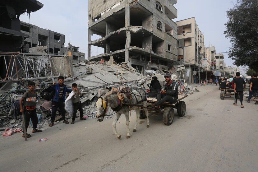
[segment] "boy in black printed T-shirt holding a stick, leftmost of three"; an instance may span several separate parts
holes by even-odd
[[[37,93],[34,91],[35,89],[35,83],[32,81],[28,82],[28,88],[29,91],[26,91],[20,100],[20,112],[24,112],[24,121],[25,121],[25,128],[26,131],[28,129],[30,119],[33,124],[32,132],[42,132],[41,130],[37,129],[38,125],[38,117],[36,113],[36,100],[37,100]],[[22,107],[22,101],[24,100],[24,106]],[[24,131],[22,134],[22,137],[24,137]],[[27,134],[27,138],[31,137],[30,134]]]

